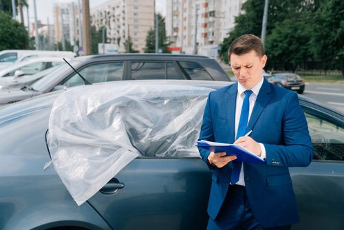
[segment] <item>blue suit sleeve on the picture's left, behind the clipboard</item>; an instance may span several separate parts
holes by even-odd
[[[208,99],[206,101],[206,107],[204,109],[202,127],[201,127],[201,132],[200,132],[200,140],[215,141],[214,132],[213,132],[213,119],[211,116],[211,93],[208,95]],[[202,148],[198,148],[198,151],[200,151],[200,155],[202,159],[204,160],[204,162],[206,163],[206,158],[208,158],[210,151],[206,149],[202,149]],[[208,165],[208,167],[211,170],[217,169],[216,167],[212,165]]]

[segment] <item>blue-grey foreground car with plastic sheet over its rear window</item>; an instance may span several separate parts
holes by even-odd
[[[230,84],[155,80],[101,85],[114,87],[116,92],[116,87],[142,83],[151,84],[155,89],[171,85],[171,94],[166,92],[166,97],[160,98],[162,101],[193,94],[191,90],[177,95],[173,87],[187,84],[195,90],[197,87],[216,90]],[[87,92],[94,86],[80,87]],[[149,157],[138,157],[87,202],[76,205],[54,167],[43,170],[43,165],[50,160],[47,147],[50,111],[63,92],[37,96],[0,109],[1,229],[206,229],[211,171],[199,156],[164,157],[157,151]],[[344,227],[344,114],[305,96],[300,95],[299,101],[308,121],[314,159],[308,167],[290,168],[301,216],[301,222],[292,229],[341,230]],[[137,116],[136,107],[132,113],[128,116]],[[169,124],[164,121],[166,117],[170,116],[160,116],[160,123]],[[135,124],[140,121],[131,121],[128,132],[135,132]]]

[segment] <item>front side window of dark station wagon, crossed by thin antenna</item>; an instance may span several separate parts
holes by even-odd
[[[90,83],[120,81],[122,80],[123,63],[117,62],[89,65],[83,68],[83,70],[80,71],[80,74]],[[63,85],[67,85],[68,87],[83,84],[83,79],[81,79],[78,74],[74,74],[74,76],[63,83]]]

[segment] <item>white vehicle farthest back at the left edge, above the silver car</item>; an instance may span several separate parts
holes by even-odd
[[[0,52],[0,70],[21,61],[28,61],[39,57],[61,57],[72,59],[76,55],[70,51],[47,51],[47,50],[2,50]]]

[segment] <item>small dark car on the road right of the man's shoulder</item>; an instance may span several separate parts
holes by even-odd
[[[288,90],[294,90],[298,94],[303,94],[305,91],[305,80],[301,79],[301,76],[298,74],[276,73],[268,77],[268,81]]]

